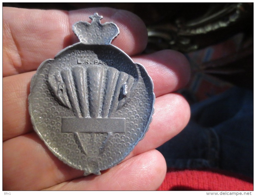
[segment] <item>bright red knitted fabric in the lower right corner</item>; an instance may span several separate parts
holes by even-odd
[[[225,174],[224,174],[225,173]],[[179,170],[167,172],[158,190],[251,191],[253,180],[226,172]]]

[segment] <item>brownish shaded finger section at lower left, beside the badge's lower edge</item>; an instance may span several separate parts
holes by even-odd
[[[3,143],[5,190],[39,190],[82,175],[55,157],[34,132]]]

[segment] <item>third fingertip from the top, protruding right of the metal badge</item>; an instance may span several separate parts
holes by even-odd
[[[126,159],[161,146],[188,124],[190,107],[181,95],[167,94],[158,97],[155,106],[149,131]]]

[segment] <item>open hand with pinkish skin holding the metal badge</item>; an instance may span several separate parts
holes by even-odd
[[[153,79],[155,112],[145,138],[117,166],[102,175],[83,176],[56,158],[33,131],[28,113],[31,77],[42,61],[77,42],[72,25],[98,12],[120,34],[113,45]],[[134,14],[110,8],[71,12],[3,8],[3,189],[5,190],[156,190],[166,173],[164,157],[154,150],[179,133],[190,117],[189,105],[171,93],[189,80],[189,64],[179,52],[138,55],[147,44],[146,27]]]

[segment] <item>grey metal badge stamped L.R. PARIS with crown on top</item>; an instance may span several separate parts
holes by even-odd
[[[44,61],[31,80],[29,112],[52,153],[84,175],[120,163],[152,120],[153,82],[145,68],[111,41],[114,23],[77,22],[80,42]]]

